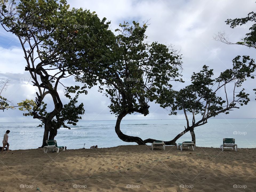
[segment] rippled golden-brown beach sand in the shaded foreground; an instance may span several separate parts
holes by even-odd
[[[128,145],[0,154],[0,191],[256,191],[256,150]]]

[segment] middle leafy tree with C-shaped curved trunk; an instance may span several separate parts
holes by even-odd
[[[170,46],[145,42],[146,23],[140,26],[133,21],[133,25],[124,22],[119,26],[121,30],[116,30],[119,34],[103,56],[107,65],[98,63],[95,75],[103,79],[99,91],[105,91],[104,94],[111,101],[110,111],[117,116],[115,132],[118,137],[125,142],[145,145],[141,138],[122,133],[122,118],[132,113],[146,116],[150,107],[148,102],[157,97],[156,93],[161,94],[171,88],[172,81],[180,81],[181,56]],[[77,59],[81,68],[84,58]]]

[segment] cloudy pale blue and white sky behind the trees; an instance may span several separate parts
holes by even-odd
[[[246,17],[255,11],[256,3],[253,1],[217,0],[217,1],[88,1],[68,0],[70,7],[89,9],[95,11],[99,18],[106,17],[111,21],[110,28],[115,30],[123,21],[148,21],[146,35],[148,41],[172,44],[174,49],[180,50],[183,60],[183,80],[185,83],[174,85],[176,89],[190,84],[193,72],[197,73],[203,65],[214,69],[214,74],[232,67],[232,59],[237,55],[250,55],[254,58],[255,49],[240,45],[226,45],[213,40],[214,34],[225,31],[231,42],[237,42],[249,31],[250,23],[231,29],[226,25],[228,18]],[[21,45],[15,35],[6,32],[0,27],[0,78],[10,79],[8,89],[2,96],[13,101],[14,104],[21,100],[34,99],[37,91],[33,87],[30,75],[25,72],[25,59]],[[73,85],[74,79],[65,79],[63,83]],[[249,105],[231,111],[228,115],[218,115],[216,118],[255,118],[255,82],[248,80],[244,83],[246,91],[250,94]],[[63,102],[63,88],[59,87]],[[49,99],[49,98],[46,98]],[[51,105],[50,99],[47,101]],[[98,92],[97,87],[89,90],[87,95],[81,95],[79,102],[83,102],[85,115],[82,120],[115,120],[115,115],[110,114],[107,107],[109,98]],[[124,119],[184,119],[183,113],[168,115],[169,110],[150,103],[149,115],[127,115]],[[191,118],[191,116],[189,116]],[[0,111],[0,122],[38,121],[32,117],[24,117],[18,109]]]

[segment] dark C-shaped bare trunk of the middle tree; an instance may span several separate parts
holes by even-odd
[[[117,122],[115,124],[115,132],[117,133],[117,136],[122,141],[125,141],[125,142],[136,142],[136,143],[138,143],[138,145],[146,145],[141,138],[125,135],[120,130],[120,123],[122,121],[122,118],[125,117],[125,115],[127,115],[127,114],[128,114],[127,112],[122,112],[117,117]]]

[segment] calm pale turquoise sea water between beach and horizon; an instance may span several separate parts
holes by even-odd
[[[7,129],[10,149],[34,149],[42,145],[43,128],[40,122],[0,123],[1,141]],[[124,134],[163,141],[172,140],[184,130],[186,120],[123,120],[121,131]],[[219,147],[223,138],[235,138],[238,148],[255,148],[256,119],[209,119],[208,123],[195,129],[197,146]],[[114,147],[118,145],[136,145],[120,140],[115,133],[115,121],[80,121],[71,130],[61,128],[55,137],[59,145],[67,149]],[[178,139],[177,143],[191,141],[190,133]],[[148,143],[149,145],[149,143]]]

